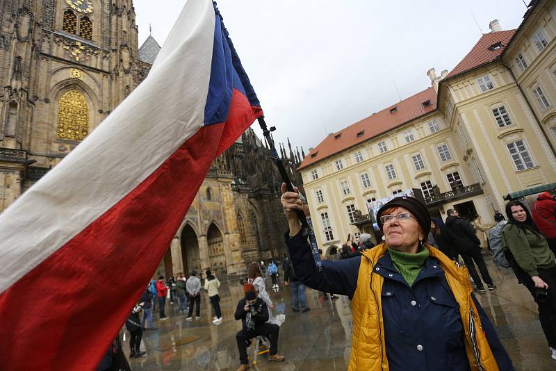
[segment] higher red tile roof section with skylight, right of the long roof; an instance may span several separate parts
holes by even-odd
[[[450,71],[448,76],[446,76],[446,79],[450,79],[450,77],[463,74],[470,69],[496,60],[496,58],[498,58],[502,51],[504,51],[507,47],[509,40],[512,39],[515,32],[516,30],[509,30],[491,32],[482,35],[482,38],[477,41],[475,47],[473,47],[465,58],[462,59],[461,62],[459,62],[457,66],[452,69],[452,71]],[[489,50],[489,47],[491,47],[491,45],[495,45],[497,42],[500,42],[500,48]]]

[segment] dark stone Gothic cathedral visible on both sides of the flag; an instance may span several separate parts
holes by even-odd
[[[149,36],[138,48],[135,20],[132,0],[0,1],[0,211],[145,79],[160,46]],[[291,145],[281,154],[301,185],[302,155]],[[279,184],[270,149],[249,129],[213,163],[157,274],[237,276],[279,256]]]

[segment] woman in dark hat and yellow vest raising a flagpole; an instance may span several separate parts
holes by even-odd
[[[281,203],[295,273],[315,290],[352,300],[349,370],[513,370],[493,325],[472,293],[464,267],[425,245],[430,215],[413,197],[377,213],[385,243],[343,261],[313,263],[296,211],[297,189]]]

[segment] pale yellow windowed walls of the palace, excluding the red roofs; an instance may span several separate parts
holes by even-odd
[[[433,199],[428,205],[433,215],[445,219],[449,208],[465,206],[470,215],[473,211],[489,224],[494,211],[504,213],[503,197],[510,192],[556,182],[555,3],[546,1],[533,8],[502,58],[453,77],[445,72],[436,77],[431,69],[429,76],[439,96],[438,108],[430,114],[302,167],[313,227],[323,251],[343,244],[350,233],[368,231],[369,225],[363,229],[352,224],[350,211],[366,215],[368,201],[391,197],[396,190],[422,189],[430,181],[445,194],[444,201]],[[531,36],[539,28],[547,42],[542,51]],[[524,72],[514,61],[519,52],[528,60]],[[492,86],[486,91],[480,86],[484,76]],[[532,91],[539,85],[548,107],[541,106]],[[432,120],[438,131],[434,125],[431,129]],[[406,140],[409,130],[414,138],[410,142]],[[381,151],[379,145],[387,150]],[[512,157],[511,149],[519,152],[518,158]],[[343,165],[340,170],[338,160]],[[389,176],[389,165],[395,177]],[[453,195],[456,172],[463,188]]]

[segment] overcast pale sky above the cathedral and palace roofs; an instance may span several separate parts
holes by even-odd
[[[492,19],[517,28],[526,10],[523,0],[217,2],[275,139],[305,154],[399,101],[394,81],[405,99],[431,85],[431,67],[455,67],[481,36],[471,13],[487,33]],[[184,1],[133,3],[139,44],[152,24],[162,45]]]

